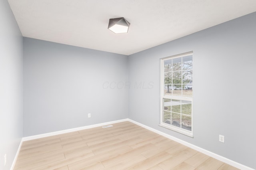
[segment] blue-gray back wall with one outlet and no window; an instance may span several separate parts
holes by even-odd
[[[127,118],[127,60],[24,38],[24,137]]]

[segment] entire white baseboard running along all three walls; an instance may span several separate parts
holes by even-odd
[[[56,132],[50,132],[50,133],[45,133],[45,134],[38,134],[38,135],[34,135],[34,136],[24,137],[24,138],[22,138],[22,141],[20,142],[20,146],[19,146],[19,148],[18,148],[18,151],[17,151],[17,154],[16,154],[16,156],[15,156],[15,159],[14,159],[14,161],[13,161],[13,163],[12,163],[12,168],[11,168],[11,170],[14,168],[14,165],[15,165],[15,162],[16,162],[16,159],[17,159],[17,157],[18,157],[18,153],[19,153],[19,151],[20,151],[20,147],[21,147],[23,141],[26,141],[26,140],[33,140],[33,139],[38,139],[38,138],[43,138],[43,137],[48,137],[48,136],[54,136],[54,135],[57,135],[57,134],[63,134],[63,133],[68,133],[68,132],[74,132],[74,131],[77,131],[77,130],[84,130],[84,129],[88,129],[88,128],[101,127],[101,126],[110,125],[110,124],[114,124],[114,123],[120,123],[120,122],[124,122],[124,121],[130,121],[130,122],[132,122],[132,123],[134,123],[134,124],[136,124],[136,125],[139,125],[139,126],[141,126],[141,127],[144,127],[144,128],[146,128],[146,129],[148,129],[148,130],[150,130],[150,131],[152,131],[152,132],[155,132],[155,133],[160,134],[160,135],[162,135],[162,136],[164,136],[164,137],[166,137],[166,138],[169,138],[169,139],[171,139],[171,140],[174,140],[174,141],[176,141],[176,142],[179,142],[180,144],[183,144],[183,145],[185,145],[185,146],[188,146],[188,147],[190,147],[190,148],[192,148],[192,149],[194,149],[194,150],[197,150],[198,152],[202,152],[202,153],[204,153],[204,154],[206,154],[206,155],[208,155],[208,156],[211,156],[212,158],[215,158],[215,159],[217,159],[217,160],[220,160],[220,161],[222,161],[222,162],[224,162],[224,163],[226,163],[226,164],[230,164],[231,166],[234,166],[234,167],[239,168],[239,169],[241,169],[241,170],[254,170],[254,169],[252,169],[252,168],[250,168],[250,167],[248,167],[248,166],[245,166],[245,165],[243,165],[243,164],[240,164],[240,163],[238,163],[238,162],[235,162],[235,161],[233,161],[233,160],[230,160],[230,159],[228,159],[228,158],[225,158],[225,157],[223,157],[223,156],[220,156],[220,155],[218,155],[218,154],[215,154],[215,153],[213,153],[213,152],[210,152],[210,151],[208,151],[208,150],[205,150],[205,149],[200,148],[200,147],[198,147],[198,146],[195,146],[195,145],[193,145],[193,144],[190,144],[190,143],[188,143],[188,142],[186,142],[186,141],[184,141],[184,140],[180,140],[180,139],[178,139],[178,138],[176,138],[176,137],[174,137],[174,136],[171,136],[171,135],[169,135],[169,134],[166,134],[166,133],[161,132],[161,131],[159,131],[159,130],[156,130],[156,129],[154,129],[154,128],[148,127],[148,126],[146,126],[146,125],[143,125],[143,124],[138,123],[138,122],[136,122],[136,121],[133,121],[133,120],[131,120],[131,119],[121,119],[121,120],[118,120],[118,121],[111,121],[111,122],[106,122],[106,123],[99,123],[99,124],[95,124],[95,125],[89,125],[89,126],[84,126],[84,127],[78,127],[78,128],[72,128],[72,129],[67,129],[67,130],[60,130],[60,131],[56,131]]]

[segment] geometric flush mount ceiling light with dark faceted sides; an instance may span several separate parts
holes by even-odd
[[[116,34],[127,33],[129,26],[130,23],[124,17],[109,19],[108,23],[108,29]]]

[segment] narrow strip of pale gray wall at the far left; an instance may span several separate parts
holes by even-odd
[[[0,169],[9,170],[22,138],[22,35],[0,1]],[[6,154],[6,166],[4,166]]]

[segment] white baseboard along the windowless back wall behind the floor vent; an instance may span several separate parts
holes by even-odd
[[[84,127],[60,130],[60,131],[56,131],[56,132],[38,134],[38,135],[34,135],[34,136],[23,137],[22,141],[44,138],[44,137],[48,137],[48,136],[54,136],[54,135],[57,135],[57,134],[74,132],[74,131],[84,130],[84,129],[88,129],[88,128],[101,127],[101,126],[110,125],[110,124],[114,124],[114,123],[120,123],[120,122],[124,122],[124,121],[129,121],[129,120],[128,119],[121,119],[121,120],[118,120],[118,121],[111,121],[111,122],[99,123],[99,124],[95,124],[95,125],[88,125],[88,126],[84,126]]]

